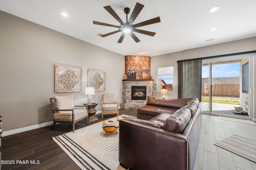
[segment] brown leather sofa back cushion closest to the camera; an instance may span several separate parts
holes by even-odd
[[[182,107],[164,122],[163,129],[182,134],[191,119],[190,109]]]

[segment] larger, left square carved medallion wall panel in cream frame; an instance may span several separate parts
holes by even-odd
[[[55,65],[55,93],[81,92],[82,68]]]

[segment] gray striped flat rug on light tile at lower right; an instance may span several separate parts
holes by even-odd
[[[215,145],[256,162],[256,141],[254,140],[234,134]]]

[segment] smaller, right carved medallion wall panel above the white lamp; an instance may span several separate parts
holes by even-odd
[[[105,91],[105,72],[88,70],[88,87],[95,91]]]

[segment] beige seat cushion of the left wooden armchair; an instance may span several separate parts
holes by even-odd
[[[85,117],[87,115],[87,111],[84,109],[74,109],[74,118],[75,121]],[[61,113],[55,113],[53,115],[54,120],[58,121],[72,121],[72,111],[63,111]]]

